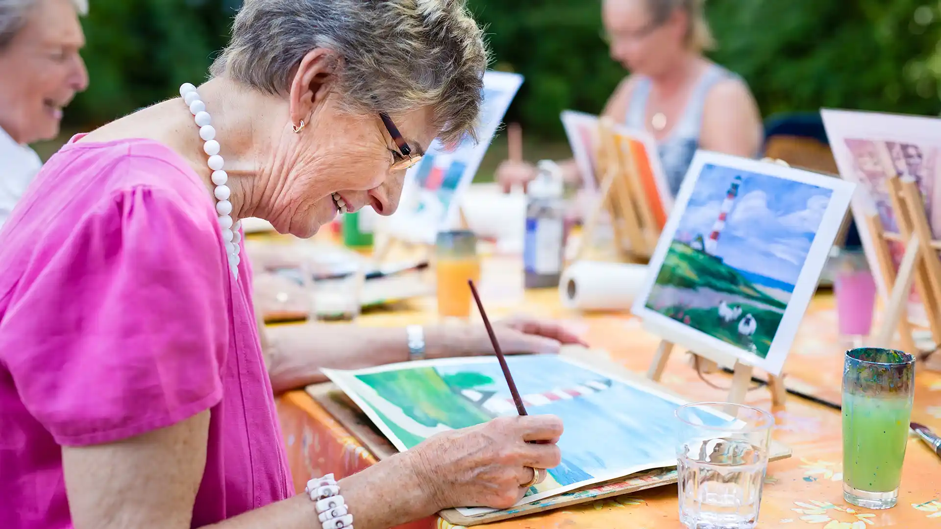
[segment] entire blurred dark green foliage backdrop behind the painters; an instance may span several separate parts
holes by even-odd
[[[562,136],[559,112],[598,112],[626,74],[599,38],[599,0],[469,0],[494,67],[526,82],[509,111]],[[238,0],[92,0],[91,87],[70,111],[88,127],[204,78]],[[748,81],[768,116],[821,106],[935,115],[941,10],[928,0],[708,0],[711,56]]]

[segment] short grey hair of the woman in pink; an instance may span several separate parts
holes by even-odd
[[[430,106],[441,140],[473,136],[488,56],[466,0],[246,0],[212,73],[283,95],[315,48],[336,52],[346,110]]]

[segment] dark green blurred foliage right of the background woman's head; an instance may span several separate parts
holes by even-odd
[[[712,56],[765,115],[843,107],[937,114],[937,4],[924,0],[710,0]]]

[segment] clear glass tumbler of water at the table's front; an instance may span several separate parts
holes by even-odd
[[[758,523],[774,417],[723,402],[677,409],[679,521],[690,529],[751,529]]]

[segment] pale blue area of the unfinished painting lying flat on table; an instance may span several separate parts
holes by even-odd
[[[514,356],[507,363],[519,393],[524,395],[606,378],[554,356]],[[441,375],[481,373],[496,382],[478,389],[496,391],[491,398],[510,398],[496,359],[490,363],[440,365],[437,369]],[[615,382],[600,393],[559,400],[527,411],[531,415],[550,413],[562,418],[565,433],[559,448],[563,467],[568,468],[555,469],[552,476],[566,485],[587,479],[584,473],[598,476],[649,463],[675,464],[679,423],[673,413],[677,408],[677,404],[659,396]]]

